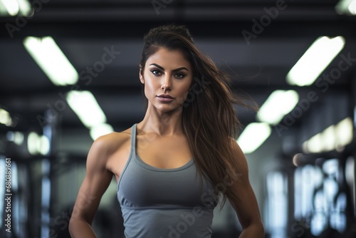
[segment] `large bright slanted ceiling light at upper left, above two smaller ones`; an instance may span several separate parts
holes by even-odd
[[[51,36],[37,38],[28,36],[23,45],[48,78],[56,86],[78,82],[78,73]]]

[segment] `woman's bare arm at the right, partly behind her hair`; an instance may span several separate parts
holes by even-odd
[[[235,167],[239,180],[231,185],[232,190],[238,197],[238,202],[231,202],[234,207],[242,227],[240,238],[262,238],[265,236],[261,214],[258,210],[256,196],[252,190],[248,179],[248,165],[244,152],[239,145],[233,142],[236,159],[239,160]]]

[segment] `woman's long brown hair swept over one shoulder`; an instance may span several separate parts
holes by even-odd
[[[238,202],[231,185],[224,186],[224,179],[229,176],[229,181],[239,180],[234,170],[239,166],[239,160],[234,157],[231,147],[231,141],[236,140],[241,126],[234,104],[248,104],[231,92],[229,75],[199,51],[185,26],[157,26],[145,35],[140,61],[142,75],[147,59],[159,48],[179,50],[192,64],[194,86],[183,103],[183,130],[200,175],[207,175],[218,189],[224,187],[221,206],[226,197],[231,202]]]

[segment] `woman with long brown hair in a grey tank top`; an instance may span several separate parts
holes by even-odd
[[[95,237],[90,224],[115,175],[127,238],[211,237],[219,198],[236,209],[241,237],[264,237],[246,158],[235,140],[233,103],[240,102],[229,77],[194,46],[184,26],[156,27],[144,41],[145,118],[93,143],[70,234]]]

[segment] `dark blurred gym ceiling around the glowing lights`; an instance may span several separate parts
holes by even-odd
[[[54,86],[48,80],[23,47],[26,36],[55,39],[78,73],[87,76],[76,87],[93,92],[108,123],[117,131],[141,120],[145,113],[137,64],[142,36],[152,26],[187,25],[201,51],[231,73],[236,93],[248,93],[259,105],[276,89],[306,92],[305,88],[289,86],[286,74],[319,36],[344,36],[342,53],[356,56],[356,17],[336,14],[336,0],[34,2],[36,11],[31,19],[0,18],[0,106],[19,118],[17,130],[41,131],[38,115],[55,108],[63,135],[75,132],[80,134],[78,140],[90,138],[63,100],[71,88]],[[152,4],[157,2],[162,4],[159,10]],[[252,32],[253,19],[260,21],[266,9],[283,2],[285,9],[247,42],[242,32]],[[9,31],[10,26],[16,28]],[[101,60],[105,48],[120,54],[103,71],[90,76],[86,69]],[[335,59],[329,68],[338,61]],[[349,88],[352,77],[355,66],[342,73],[328,94]],[[255,120],[251,112],[238,113],[244,125]]]

